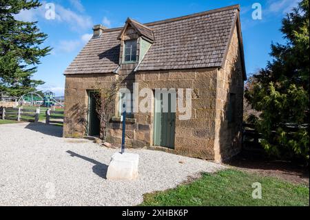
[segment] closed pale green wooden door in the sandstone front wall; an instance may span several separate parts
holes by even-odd
[[[163,111],[163,94],[161,94],[160,99],[155,99],[154,145],[174,149],[176,112],[172,112],[171,107],[176,106],[176,99],[172,94],[167,95],[168,112]]]

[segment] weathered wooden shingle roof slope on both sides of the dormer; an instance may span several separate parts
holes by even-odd
[[[239,6],[229,6],[144,25],[131,19],[143,35],[154,37],[136,70],[222,67],[239,10]],[[100,38],[91,39],[65,74],[114,72],[119,65],[122,30],[107,29]]]

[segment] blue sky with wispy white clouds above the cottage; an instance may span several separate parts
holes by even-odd
[[[92,36],[94,24],[101,23],[108,28],[116,28],[123,26],[127,17],[147,23],[240,4],[245,64],[247,74],[250,75],[265,67],[270,60],[271,42],[284,42],[280,32],[281,20],[297,5],[298,0],[55,0],[41,3],[41,8],[23,11],[18,14],[17,19],[38,21],[41,31],[48,34],[44,46],[54,49],[50,55],[41,59],[34,79],[45,81],[45,85],[39,89],[52,90],[56,95],[63,95],[63,72]],[[55,19],[46,19],[46,3],[54,3]],[[261,20],[252,19],[254,3],[260,3],[262,6]]]

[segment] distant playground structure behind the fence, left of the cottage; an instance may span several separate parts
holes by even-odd
[[[63,107],[63,103],[55,99],[55,94],[53,92],[46,91],[43,94],[44,97],[41,97],[41,95],[36,92],[29,92],[21,96],[18,103],[20,106],[42,106],[45,108],[50,108],[52,106]]]

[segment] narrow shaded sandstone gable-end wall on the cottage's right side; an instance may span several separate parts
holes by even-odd
[[[229,159],[242,146],[243,72],[237,29],[231,39],[225,68],[218,70],[216,88],[216,161]],[[233,122],[227,120],[229,93],[236,94],[236,109]]]

